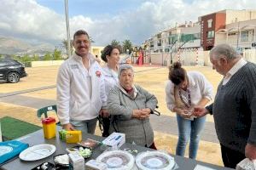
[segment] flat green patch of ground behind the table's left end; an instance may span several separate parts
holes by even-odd
[[[3,141],[20,138],[21,136],[33,133],[42,128],[10,116],[4,116],[0,119],[0,122]]]

